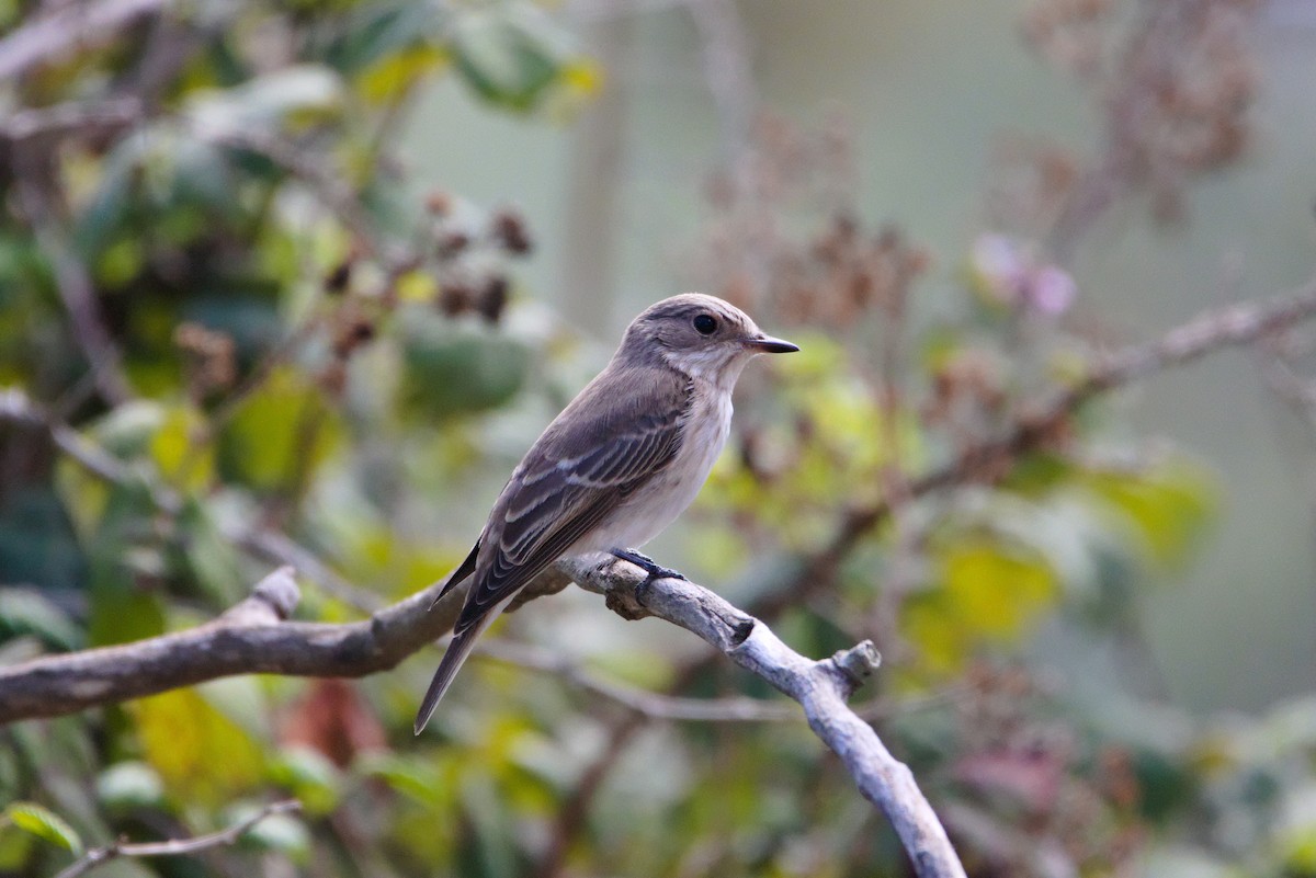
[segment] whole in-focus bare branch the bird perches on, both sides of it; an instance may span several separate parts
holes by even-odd
[[[605,594],[608,606],[625,618],[657,615],[679,624],[799,701],[809,727],[842,758],[861,793],[891,819],[917,874],[963,875],[913,775],[845,703],[876,668],[871,643],[812,661],[767,626],[692,582],[659,580],[637,594],[644,572],[611,556],[601,566],[566,559],[558,569]],[[465,588],[428,611],[437,588],[365,622],[287,622],[299,593],[292,569],[280,568],[257,585],[251,598],[190,631],[0,669],[0,723],[68,714],[240,673],[359,677],[383,670],[451,627]]]

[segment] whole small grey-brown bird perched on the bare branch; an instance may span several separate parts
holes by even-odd
[[[416,714],[417,735],[475,639],[559,557],[611,552],[650,580],[680,576],[628,547],[647,543],[695,499],[726,443],[732,388],[750,358],[797,350],[700,293],[663,300],[630,323],[608,367],[513,471],[475,548],[434,599],[474,577]]]

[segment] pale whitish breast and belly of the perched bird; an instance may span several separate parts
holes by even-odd
[[[732,425],[728,393],[701,394],[708,402],[691,411],[672,461],[612,511],[569,553],[640,547],[661,534],[694,502],[726,444]],[[588,544],[586,544],[588,543]]]

